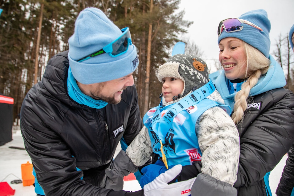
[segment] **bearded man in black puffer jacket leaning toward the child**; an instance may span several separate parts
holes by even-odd
[[[128,28],[118,29],[99,9],[81,11],[69,51],[49,60],[21,107],[37,194],[144,195],[111,187],[105,174],[119,141],[130,144],[142,128],[132,76],[137,66]]]

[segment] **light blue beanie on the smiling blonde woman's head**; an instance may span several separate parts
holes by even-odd
[[[235,37],[245,41],[251,46],[258,49],[263,55],[269,58],[270,54],[270,21],[268,14],[263,9],[252,10],[242,14],[239,19],[247,20],[259,26],[263,31],[256,29],[248,24],[241,24],[243,29],[241,31],[227,33],[223,31],[218,37],[218,44],[220,40],[226,37]],[[228,28],[228,27],[227,27]]]

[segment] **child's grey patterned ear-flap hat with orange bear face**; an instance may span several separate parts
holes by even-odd
[[[194,87],[200,88],[209,81],[206,62],[190,54],[176,54],[158,68],[158,80],[165,77],[180,78],[184,82],[181,96],[188,94]]]

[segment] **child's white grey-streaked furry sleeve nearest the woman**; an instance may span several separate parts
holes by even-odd
[[[212,107],[198,118],[196,130],[202,152],[201,172],[233,186],[240,156],[240,139],[233,120],[220,107]]]

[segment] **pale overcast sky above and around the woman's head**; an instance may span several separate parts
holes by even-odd
[[[278,36],[286,36],[294,24],[294,0],[181,0],[179,9],[185,10],[185,20],[194,21],[186,36],[204,52],[202,58],[207,63],[208,59],[218,59],[217,28],[223,19],[238,18],[250,10],[266,10],[271,22],[270,54]]]

